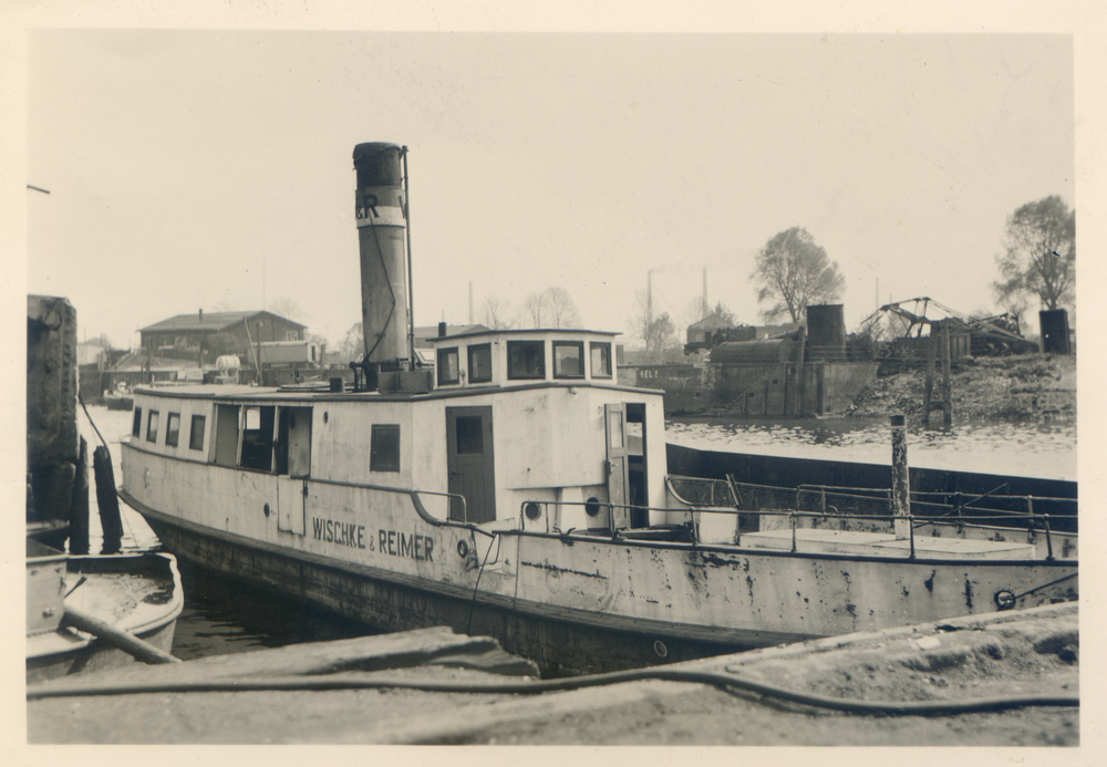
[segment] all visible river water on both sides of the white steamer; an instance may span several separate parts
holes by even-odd
[[[131,413],[89,408],[108,443],[116,484],[123,480],[120,443],[130,438]],[[81,434],[90,454],[99,439],[89,419],[79,413]],[[884,419],[807,419],[787,423],[728,418],[687,418],[665,424],[670,442],[689,447],[831,460],[887,464],[891,436]],[[946,432],[912,429],[909,456],[913,465],[1055,479],[1076,479],[1076,426],[995,424]],[[91,473],[91,467],[90,467]],[[102,546],[95,488],[90,490],[90,550]],[[145,520],[126,505],[123,515],[124,551],[161,546]],[[311,604],[258,589],[249,583],[178,562],[185,589],[185,609],[177,620],[174,654],[182,660],[246,652],[298,642],[345,639],[372,631]]]

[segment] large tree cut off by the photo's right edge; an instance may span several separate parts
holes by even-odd
[[[1075,300],[1076,211],[1054,195],[1027,203],[1007,217],[1004,252],[995,257],[996,301],[1012,314],[1037,297],[1046,309]]]

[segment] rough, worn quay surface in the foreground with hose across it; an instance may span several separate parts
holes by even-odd
[[[520,694],[536,683],[532,664],[489,639],[425,629],[56,680],[28,690],[28,742],[1079,745],[1075,603],[658,668],[673,678]],[[836,711],[682,674],[890,707]],[[404,686],[418,684],[437,690]],[[1026,695],[1047,702],[1003,703]],[[896,709],[982,698],[990,704],[972,713]]]

